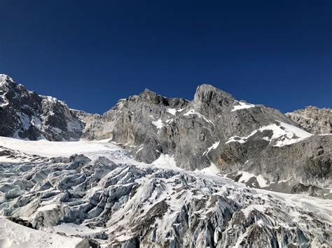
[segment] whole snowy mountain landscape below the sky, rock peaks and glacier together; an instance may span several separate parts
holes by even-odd
[[[97,115],[0,75],[0,247],[332,247],[332,136],[288,116],[212,85]]]

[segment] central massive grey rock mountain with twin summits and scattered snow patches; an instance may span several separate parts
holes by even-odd
[[[168,154],[188,170],[216,166],[269,182],[331,186],[332,136],[314,136],[279,110],[237,101],[212,85],[200,85],[193,101],[148,89],[121,99],[90,117],[83,137],[112,138],[147,163]]]

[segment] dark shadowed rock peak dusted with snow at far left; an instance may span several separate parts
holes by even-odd
[[[80,138],[82,129],[83,122],[64,102],[39,96],[0,75],[0,136],[59,141]]]

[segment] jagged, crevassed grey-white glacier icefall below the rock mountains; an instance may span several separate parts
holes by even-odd
[[[4,163],[0,171],[0,214],[52,233],[45,237],[103,247],[332,245],[331,200],[83,155]]]

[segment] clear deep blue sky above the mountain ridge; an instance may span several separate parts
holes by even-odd
[[[332,107],[332,1],[0,0],[0,73],[104,112],[209,83],[282,112]]]

